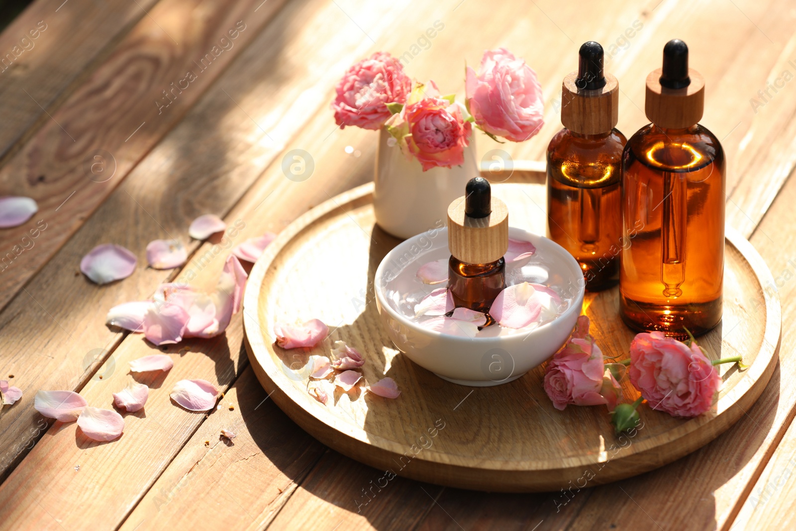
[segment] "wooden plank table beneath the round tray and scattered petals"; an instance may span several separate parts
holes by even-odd
[[[0,231],[0,377],[25,392],[0,418],[0,529],[793,528],[794,18],[786,0],[36,0],[0,34],[0,195],[33,197],[40,209]],[[33,48],[18,53],[34,29]],[[767,261],[782,299],[778,369],[747,416],[707,447],[579,490],[565,506],[561,493],[396,478],[357,511],[380,472],[323,447],[267,400],[242,349],[240,314],[218,338],[161,349],[176,361],[169,381],[147,382],[146,408],[125,416],[116,441],[94,443],[33,409],[38,389],[66,388],[111,407],[128,361],[156,349],[105,326],[107,310],[176,277],[212,286],[229,242],[193,242],[181,271],[139,267],[104,287],[78,271],[91,248],[121,244],[145,264],[150,240],[187,240],[202,213],[242,226],[236,243],[372,178],[375,133],[338,129],[329,109],[354,61],[388,50],[417,79],[462,93],[464,61],[505,46],[537,70],[547,123],[522,144],[481,137],[478,152],[540,160],[583,41],[606,47],[622,90],[618,127],[630,135],[646,123],[644,80],[672,37],[689,44],[707,84],[702,123],[727,152],[728,223]],[[189,70],[195,79],[174,89]],[[283,174],[294,149],[314,159],[305,182]],[[39,220],[45,230],[22,240]],[[222,408],[175,407],[168,393],[181,378],[216,383]],[[220,428],[236,431],[233,443]]]

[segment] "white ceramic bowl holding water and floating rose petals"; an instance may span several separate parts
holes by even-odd
[[[583,306],[584,282],[579,264],[563,247],[544,236],[520,228],[509,228],[509,236],[530,241],[537,248],[535,256],[544,256],[554,264],[554,267],[548,267],[550,278],[546,283],[568,290],[566,298],[571,301],[568,308],[551,322],[529,332],[492,337],[443,334],[413,322],[389,302],[388,291],[396,290],[389,288],[388,284],[396,279],[396,267],[416,271],[420,265],[439,258],[429,257],[435,250],[435,255],[439,255],[443,247],[447,251],[447,228],[435,229],[433,235],[423,232],[384,256],[374,282],[377,307],[384,326],[392,342],[409,359],[447,381],[487,386],[516,380],[564,345]],[[403,275],[402,278],[406,277]],[[507,283],[511,283],[508,273]],[[441,283],[431,288],[444,286]]]

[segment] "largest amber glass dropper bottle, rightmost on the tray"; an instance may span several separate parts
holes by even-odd
[[[697,123],[704,80],[689,49],[674,39],[663,68],[646,79],[652,123],[627,143],[623,158],[620,307],[636,330],[685,338],[721,320],[724,277],[724,150]]]

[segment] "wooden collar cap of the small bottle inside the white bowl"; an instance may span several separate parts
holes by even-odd
[[[469,217],[464,213],[465,197],[448,206],[448,248],[465,264],[490,264],[509,250],[509,209],[492,197],[492,213]]]

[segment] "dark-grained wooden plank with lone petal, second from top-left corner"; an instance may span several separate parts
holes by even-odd
[[[255,11],[260,3],[158,2],[0,168],[2,189],[39,205],[27,223],[0,232],[0,307],[179,122],[284,0]],[[46,229],[31,239],[37,223]]]

